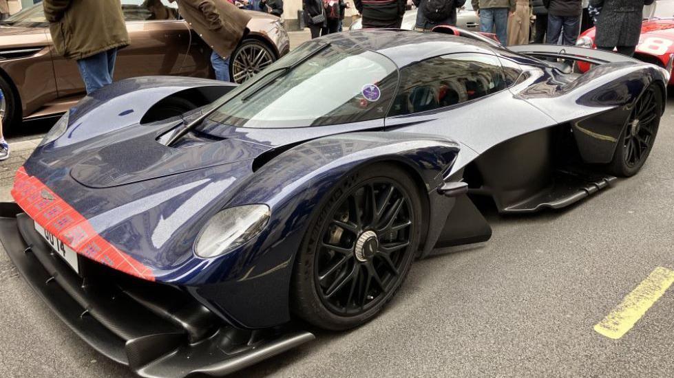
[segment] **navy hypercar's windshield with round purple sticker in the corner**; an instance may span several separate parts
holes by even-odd
[[[308,42],[257,74],[260,85],[236,91],[209,116],[232,126],[277,129],[324,126],[383,118],[398,85],[397,67],[363,49]],[[255,80],[255,79],[254,79]]]

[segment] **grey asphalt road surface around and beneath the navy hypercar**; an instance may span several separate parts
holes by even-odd
[[[620,339],[594,331],[654,269],[674,269],[672,146],[669,100],[636,177],[564,211],[489,214],[491,241],[415,263],[372,322],[317,332],[235,376],[672,377],[674,287]],[[131,376],[74,336],[0,251],[0,377]]]

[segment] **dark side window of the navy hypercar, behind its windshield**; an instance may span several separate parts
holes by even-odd
[[[389,115],[450,107],[501,91],[507,85],[496,56],[437,56],[400,70],[400,86]]]

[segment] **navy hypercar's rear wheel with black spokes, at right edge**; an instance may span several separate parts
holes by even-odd
[[[660,126],[662,89],[649,85],[635,102],[618,146],[615,148],[609,171],[622,177],[639,172],[648,159]]]

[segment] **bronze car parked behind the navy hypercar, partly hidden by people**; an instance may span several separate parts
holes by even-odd
[[[180,19],[176,3],[122,0],[131,45],[120,49],[115,80],[148,75],[214,78],[211,49]],[[233,52],[230,73],[243,82],[290,49],[280,19],[250,12],[251,32]],[[0,22],[0,113],[7,129],[21,119],[59,115],[84,96],[74,60],[56,53],[41,3]]]

